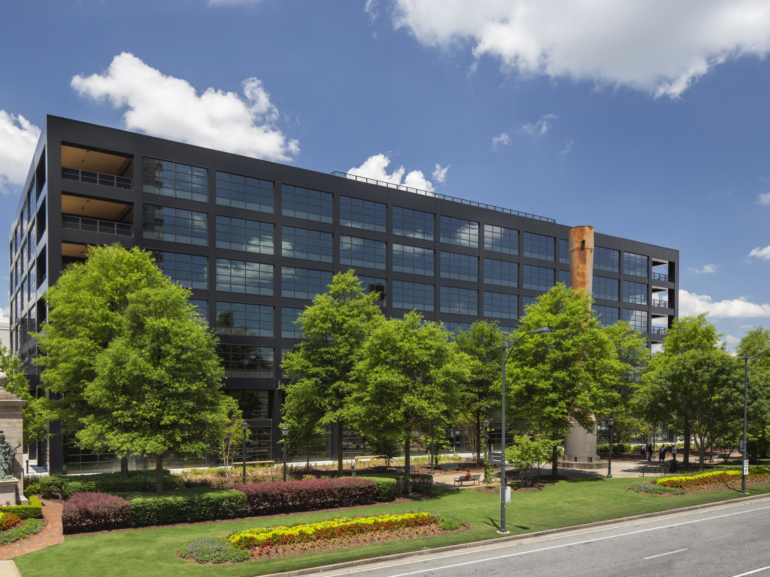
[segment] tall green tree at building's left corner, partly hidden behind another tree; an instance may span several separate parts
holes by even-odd
[[[129,295],[164,282],[149,252],[116,243],[89,247],[85,262],[68,265],[45,293],[48,319],[34,335],[45,389],[39,408],[45,419],[61,422],[63,433],[74,435],[92,415],[85,389],[96,378],[95,359],[122,327]],[[99,450],[103,444],[81,446]],[[126,474],[126,455],[120,456]]]

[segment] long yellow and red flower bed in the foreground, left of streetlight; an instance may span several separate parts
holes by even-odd
[[[456,515],[427,512],[340,517],[317,523],[246,529],[227,535],[225,540],[229,545],[222,538],[196,539],[182,545],[176,553],[183,559],[199,563],[237,562],[442,535],[468,526]],[[246,554],[244,558],[237,559],[238,555],[231,547]]]

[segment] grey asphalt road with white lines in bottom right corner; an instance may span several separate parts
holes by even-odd
[[[512,513],[509,517],[515,522]],[[316,575],[770,577],[770,499],[722,503],[653,519],[573,529]]]

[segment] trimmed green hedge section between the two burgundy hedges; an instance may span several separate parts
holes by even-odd
[[[178,489],[163,495],[132,492],[120,496],[129,502],[132,527],[236,519],[249,511],[246,495],[233,489]]]

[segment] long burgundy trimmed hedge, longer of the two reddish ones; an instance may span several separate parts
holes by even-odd
[[[366,505],[377,497],[377,483],[363,477],[249,483],[229,488],[246,494],[249,515]]]

